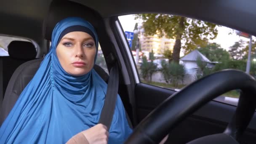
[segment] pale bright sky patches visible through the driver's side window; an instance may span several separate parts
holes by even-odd
[[[122,24],[122,27],[124,31],[133,32],[134,26],[136,22],[139,22],[139,20],[135,20],[133,15],[126,15],[126,16],[119,16],[120,23]],[[234,45],[235,42],[239,41],[240,39],[244,41],[249,41],[248,38],[240,37],[235,34],[235,31],[228,28],[228,27],[218,27],[218,35],[214,40],[209,40],[211,43],[218,43],[221,45],[221,48],[229,50],[229,47]],[[229,34],[229,33],[232,34]],[[254,37],[255,38],[255,37]]]

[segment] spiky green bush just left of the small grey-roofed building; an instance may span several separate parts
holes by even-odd
[[[162,68],[160,71],[166,83],[172,83],[176,88],[179,82],[183,84],[184,77],[186,75],[186,69],[184,65],[175,62],[167,63],[166,61],[161,61]]]

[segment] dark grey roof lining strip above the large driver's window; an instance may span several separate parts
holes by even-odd
[[[255,0],[72,0],[98,11],[102,17],[134,13],[168,13],[209,21],[256,35]],[[98,5],[98,3],[102,3]]]

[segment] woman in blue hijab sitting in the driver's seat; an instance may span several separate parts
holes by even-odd
[[[59,144],[81,134],[89,143],[123,143],[131,128],[119,96],[109,134],[98,124],[107,84],[93,69],[97,51],[88,21],[70,17],[56,24],[49,53],[0,128],[0,143]]]

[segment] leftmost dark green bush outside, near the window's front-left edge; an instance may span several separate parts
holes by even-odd
[[[152,81],[152,75],[157,72],[157,64],[154,64],[153,61],[148,62],[147,57],[142,57],[141,63],[141,76],[146,81]]]

